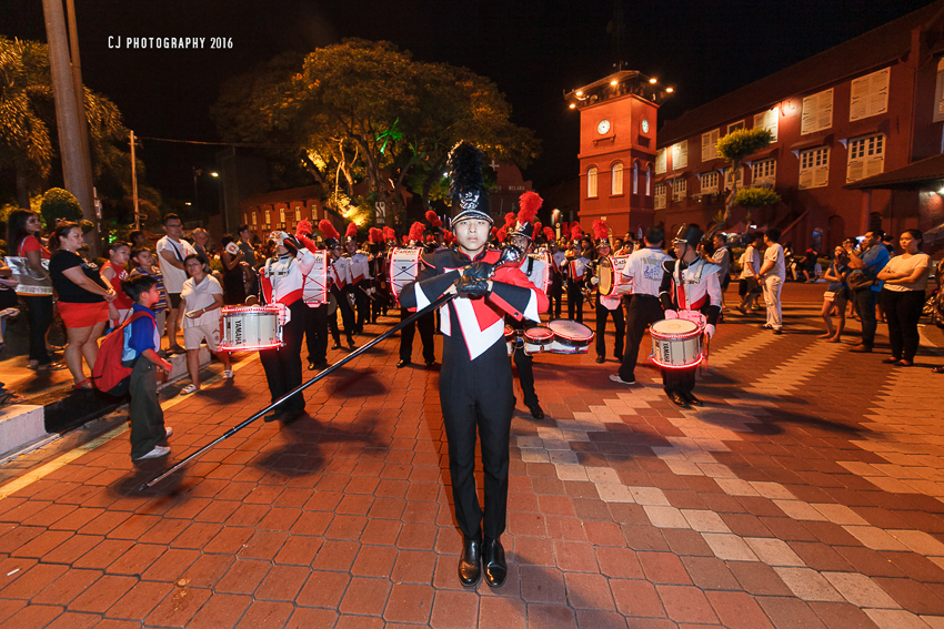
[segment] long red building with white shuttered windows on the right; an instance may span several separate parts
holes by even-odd
[[[764,126],[775,141],[732,173],[720,138]],[[802,250],[870,229],[927,230],[913,190],[851,187],[942,152],[944,2],[888,22],[665,122],[655,155],[654,216],[672,233],[712,224],[732,177],[772,186],[776,206],[735,212],[725,231],[780,227]]]

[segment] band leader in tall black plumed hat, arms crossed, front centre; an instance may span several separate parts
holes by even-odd
[[[492,219],[481,159],[481,151],[468,143],[453,150],[452,193],[459,199],[460,211],[452,229],[458,247],[425,256],[416,280],[403,288],[400,301],[414,311],[446,292],[460,295],[443,307],[440,374],[455,517],[465,537],[459,579],[463,586],[473,587],[484,565],[488,585],[501,587],[508,575],[500,537],[508,515],[509,439],[514,412],[504,315],[538,321],[539,313],[548,308],[548,297],[516,265],[496,268],[492,276],[501,253],[488,248]],[[484,510],[475,491],[476,430],[482,444]]]

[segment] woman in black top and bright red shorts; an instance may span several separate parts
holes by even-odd
[[[77,223],[60,223],[49,244],[56,250],[49,261],[49,274],[68,334],[66,364],[76,381],[72,388],[91,388],[82,371],[82,357],[89,369],[94,367],[98,338],[109,319],[109,308],[113,308],[114,290],[104,283],[94,265],[87,264],[77,253],[84,244],[82,229]]]

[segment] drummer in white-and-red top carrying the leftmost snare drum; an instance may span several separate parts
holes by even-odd
[[[282,304],[285,307],[285,322],[282,325],[284,345],[273,349],[262,349],[259,358],[265,371],[269,394],[275,402],[302,384],[302,334],[304,332],[305,304],[302,301],[304,276],[314,265],[314,256],[293,236],[275,232],[270,236],[278,244],[275,257],[270,257],[260,270],[262,294],[268,304]],[[304,414],[304,396],[295,395],[281,407],[265,415],[265,422],[282,419],[291,422]]]

